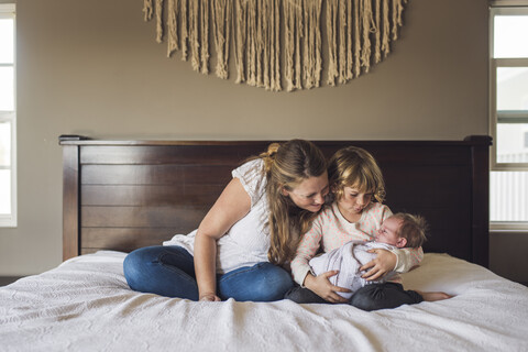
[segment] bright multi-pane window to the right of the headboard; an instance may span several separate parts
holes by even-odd
[[[513,4],[505,7],[504,4]],[[492,228],[528,228],[528,1],[493,1],[490,33]]]

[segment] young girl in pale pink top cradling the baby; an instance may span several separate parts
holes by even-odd
[[[315,219],[311,229],[301,239],[295,258],[292,262],[294,279],[301,286],[290,290],[285,298],[297,302],[348,302],[337,293],[349,289],[334,286],[329,277],[337,271],[314,276],[308,264],[319,248],[330,252],[349,241],[372,241],[382,222],[392,216],[391,209],[382,201],[385,196],[385,184],[382,172],[374,157],[360,147],[346,147],[338,151],[330,160],[328,168],[330,190],[334,201]],[[418,265],[424,251],[417,249],[394,249],[392,251],[376,249],[371,253],[377,256],[360,270],[367,271],[362,277],[374,280],[394,271],[404,273]],[[369,285],[367,285],[369,286]],[[356,297],[360,295],[360,297]],[[370,302],[378,309],[384,306],[383,295],[361,297],[359,290],[353,299],[362,302],[362,309],[371,310]],[[363,299],[359,299],[363,298]],[[373,301],[377,300],[377,301]],[[413,301],[418,302],[411,297]]]

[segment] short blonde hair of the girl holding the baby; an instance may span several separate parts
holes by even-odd
[[[375,200],[385,199],[385,182],[376,160],[367,151],[349,146],[333,154],[328,166],[330,188],[337,200],[343,197],[344,187],[372,191]]]

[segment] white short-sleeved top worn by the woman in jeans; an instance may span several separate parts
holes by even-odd
[[[260,158],[235,168],[233,178],[239,178],[251,198],[250,212],[235,222],[231,229],[217,241],[217,273],[223,274],[242,266],[252,266],[268,262],[270,249],[270,208],[266,197],[266,176],[264,162]],[[196,231],[189,234],[176,234],[163,245],[179,245],[194,254]]]

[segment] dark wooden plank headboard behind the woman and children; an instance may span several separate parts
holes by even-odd
[[[101,141],[63,135],[64,260],[130,252],[196,229],[231,170],[271,141]],[[488,266],[491,138],[315,141],[324,155],[356,145],[378,161],[386,204],[430,224],[426,252]]]

